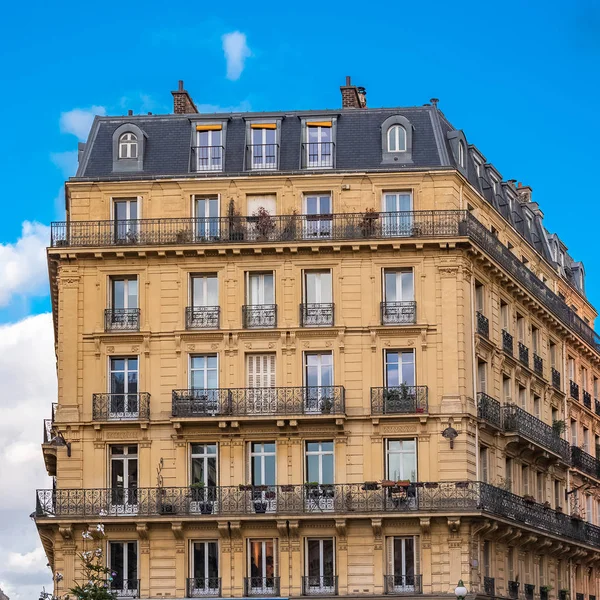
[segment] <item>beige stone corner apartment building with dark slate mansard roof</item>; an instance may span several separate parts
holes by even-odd
[[[61,594],[595,600],[584,269],[437,106],[97,117],[48,249]]]

